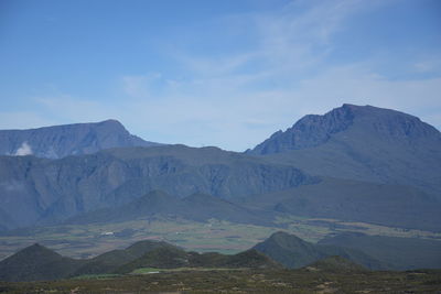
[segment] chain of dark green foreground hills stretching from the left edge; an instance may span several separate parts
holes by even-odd
[[[187,252],[160,241],[139,241],[88,260],[74,260],[33,244],[0,262],[0,281],[67,279],[84,274],[130,273],[139,268],[280,269],[281,264],[251,249],[234,255]]]

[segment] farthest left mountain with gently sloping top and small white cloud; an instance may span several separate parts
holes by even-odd
[[[130,134],[117,120],[29,130],[0,130],[0,155],[61,159],[110,148],[154,145],[160,144]]]

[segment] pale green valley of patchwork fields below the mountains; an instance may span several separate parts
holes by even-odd
[[[0,235],[0,260],[14,253],[18,248],[35,242],[49,246],[71,258],[95,257],[140,240],[163,240],[197,252],[237,253],[281,229],[310,242],[318,242],[327,235],[345,231],[372,236],[423,238],[441,242],[439,232],[336,219],[286,216],[279,217],[272,227],[262,227],[216,219],[197,222],[159,217],[116,224],[66,225],[10,231]]]

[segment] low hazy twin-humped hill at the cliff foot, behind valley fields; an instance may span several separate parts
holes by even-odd
[[[241,224],[270,225],[270,217],[257,215],[227,200],[207,194],[195,193],[184,198],[161,190],[152,190],[133,202],[112,208],[82,214],[67,224],[119,222],[152,216],[181,217],[195,221],[211,218]]]

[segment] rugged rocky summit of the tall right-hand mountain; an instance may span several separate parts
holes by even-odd
[[[265,155],[314,148],[349,129],[400,143],[409,143],[420,138],[441,142],[441,134],[435,128],[411,115],[368,105],[344,104],[323,116],[304,116],[284,132],[273,133],[247,153]]]

